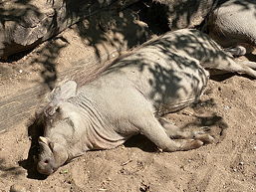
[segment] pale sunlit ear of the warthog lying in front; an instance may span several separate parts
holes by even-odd
[[[77,94],[77,83],[74,81],[68,81],[53,90],[50,98],[52,104],[57,104],[61,100],[66,100]]]

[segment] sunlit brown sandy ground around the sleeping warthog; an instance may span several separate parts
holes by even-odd
[[[55,63],[54,71],[59,72],[96,53],[96,47],[78,37],[76,27],[59,37],[1,64],[1,96],[43,84],[42,74],[52,72],[42,65],[46,61]],[[46,49],[56,45],[56,52]],[[209,82],[201,102],[166,116],[183,128],[209,127],[213,144],[162,153],[146,138],[135,136],[116,149],[90,151],[47,178],[30,171],[26,118],[0,134],[0,191],[256,191],[255,83],[242,76],[218,77]]]

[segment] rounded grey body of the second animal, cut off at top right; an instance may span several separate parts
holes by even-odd
[[[208,19],[209,36],[232,55],[241,56],[256,47],[256,1],[229,0]]]

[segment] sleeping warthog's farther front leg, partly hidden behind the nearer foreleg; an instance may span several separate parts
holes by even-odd
[[[171,124],[169,121],[165,120],[164,118],[158,119],[161,125],[163,126],[166,134],[170,138],[192,138],[192,139],[199,139],[203,141],[204,143],[211,143],[213,142],[214,138],[207,134],[204,130],[200,131],[183,131],[180,130],[179,127],[175,126],[174,124]]]

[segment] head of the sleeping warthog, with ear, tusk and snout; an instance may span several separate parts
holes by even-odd
[[[67,99],[76,95],[77,84],[69,81],[57,87],[50,97],[50,102],[42,113],[44,135],[38,139],[37,170],[50,175],[69,160],[69,142],[74,132],[74,124],[69,117],[72,111]],[[72,130],[72,131],[71,131]]]

